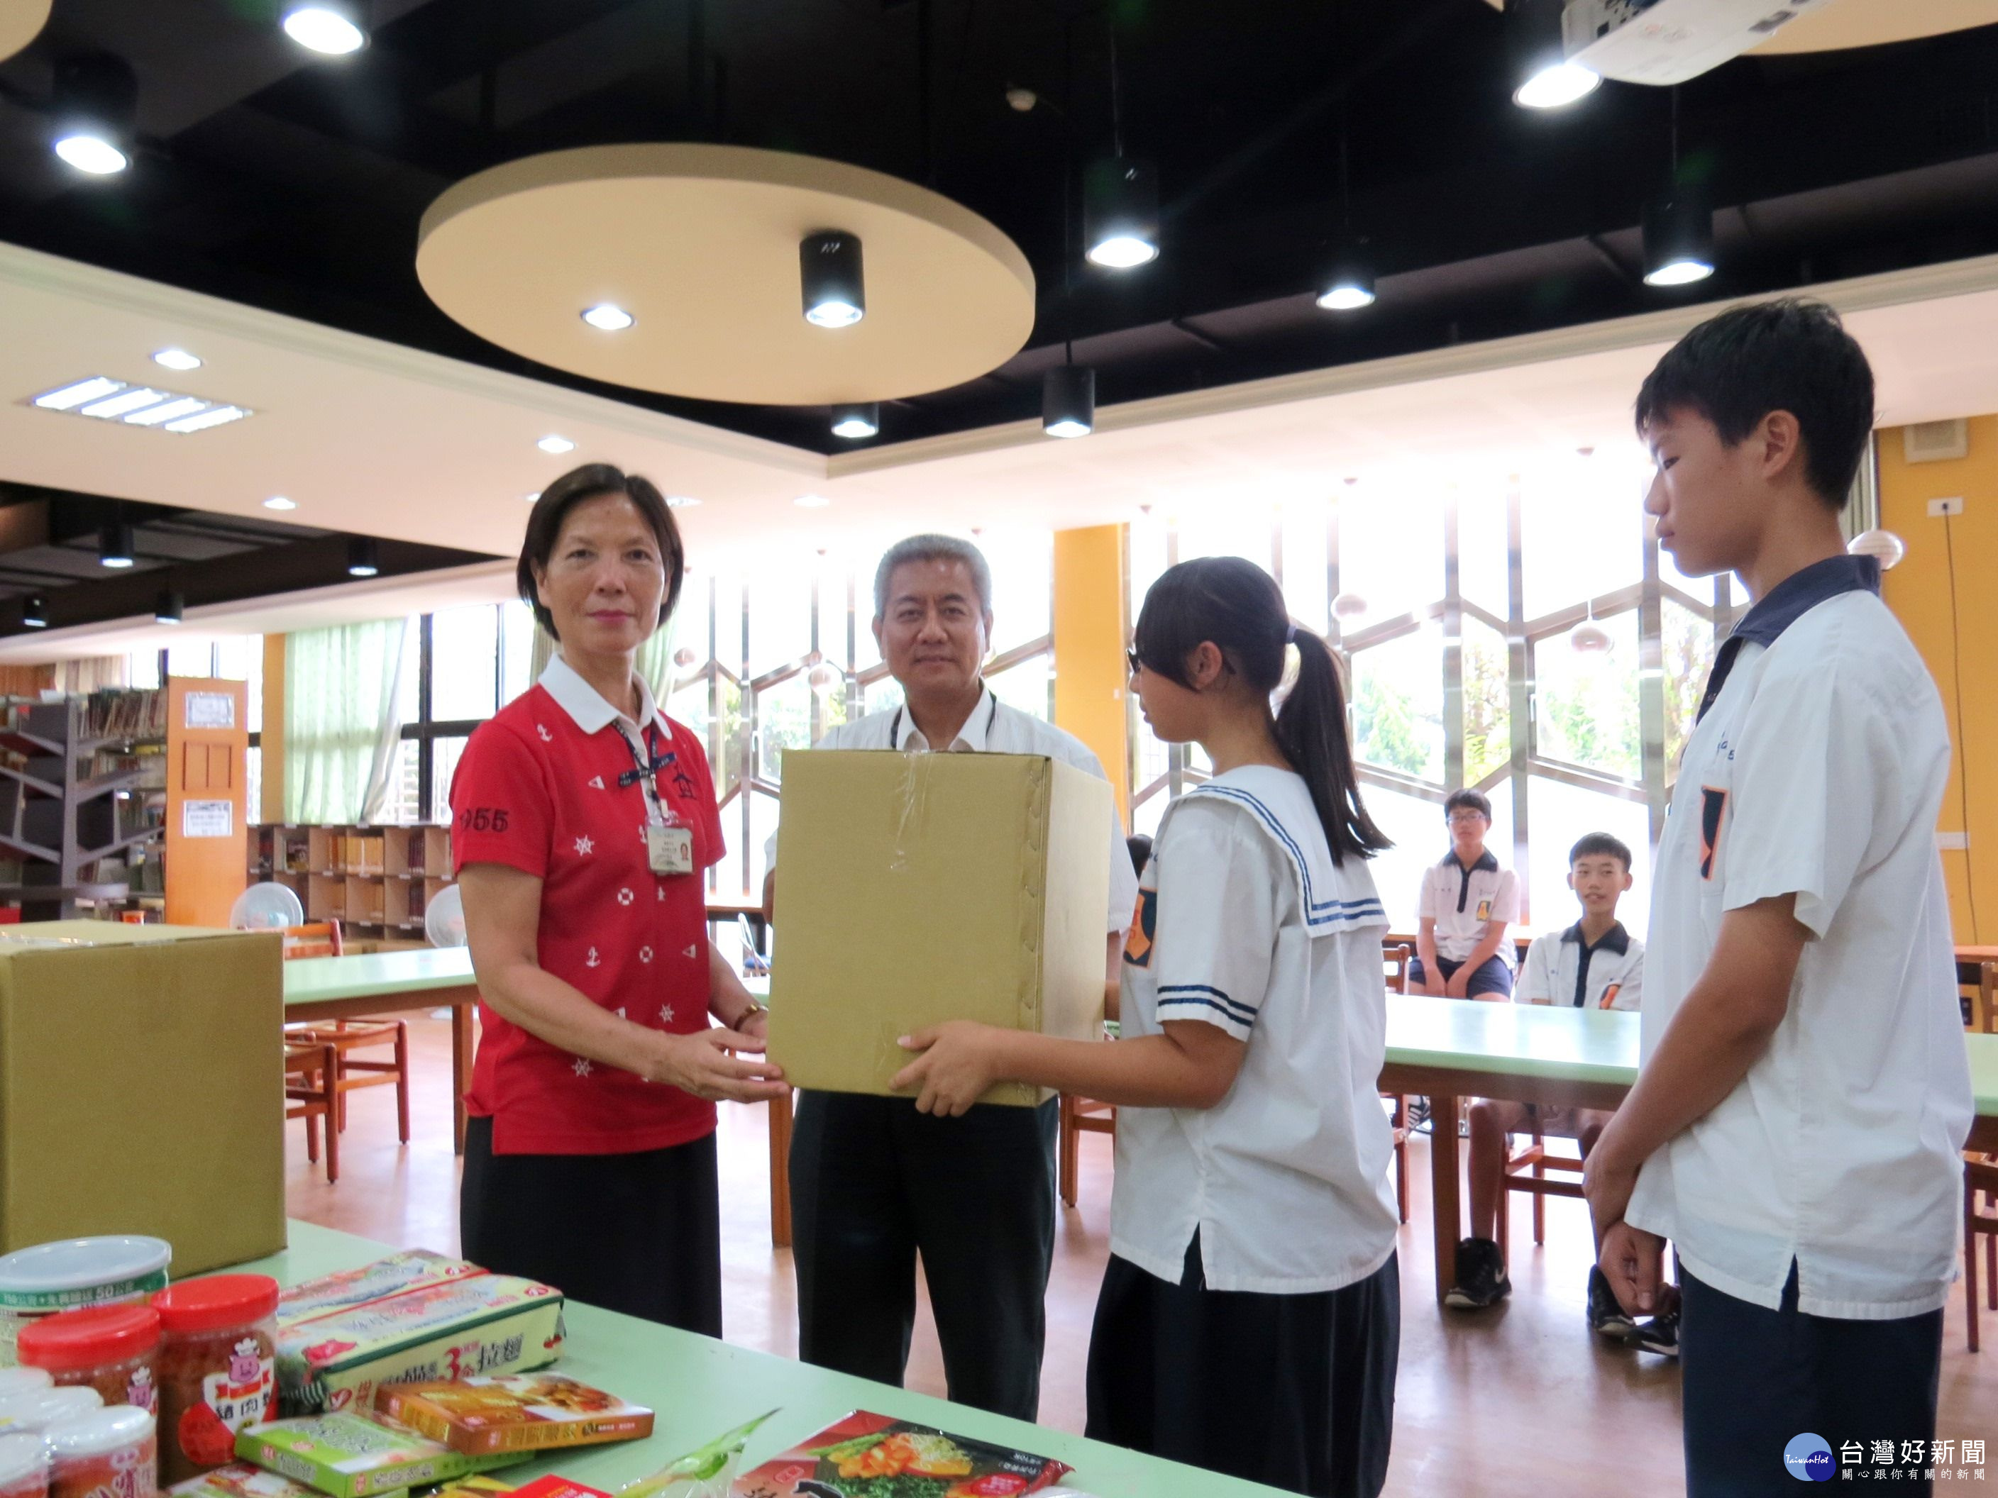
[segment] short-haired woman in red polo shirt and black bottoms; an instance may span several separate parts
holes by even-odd
[[[707,755],[633,671],[683,571],[665,499],[607,463],[527,517],[519,595],[561,651],[452,781],[484,1001],[458,1212],[486,1268],[719,1336],[715,1099],[783,1085],[731,1055],[763,1051],[763,1009],[707,937]]]

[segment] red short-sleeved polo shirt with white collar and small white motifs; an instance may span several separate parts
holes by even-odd
[[[452,857],[503,863],[541,881],[541,967],[619,1019],[689,1035],[707,1029],[707,909],[701,875],[655,875],[635,779],[637,725],[561,657],[482,723],[452,779]],[[699,739],[641,687],[653,785],[693,833],[693,865],[721,859],[721,819]],[[625,737],[631,733],[631,737]],[[619,779],[623,783],[619,783]],[[623,1154],[715,1128],[715,1105],[677,1087],[573,1057],[490,1007],[466,1107],[494,1121],[496,1154]]]

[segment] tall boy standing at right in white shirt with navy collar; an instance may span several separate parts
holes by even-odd
[[[1950,739],[1838,531],[1872,415],[1866,356],[1808,302],[1700,324],[1636,399],[1658,543],[1754,599],[1680,761],[1642,1069],[1584,1176],[1630,1312],[1660,1240],[1678,1254],[1690,1498],[1786,1490],[1800,1434],[1936,1434],[1972,1113],[1934,843]]]

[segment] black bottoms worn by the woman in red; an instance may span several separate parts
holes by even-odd
[[[464,1256],[627,1316],[721,1336],[715,1136],[639,1154],[494,1154],[466,1119]]]

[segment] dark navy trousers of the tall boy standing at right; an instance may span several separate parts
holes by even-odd
[[[1678,1362],[1686,1410],[1686,1498],[1788,1492],[1784,1448],[1800,1434],[1840,1448],[1926,1444],[1936,1436],[1942,1312],[1900,1320],[1838,1320],[1796,1308],[1796,1264],[1782,1308],[1768,1310],[1702,1284],[1678,1266]],[[1926,1468],[1924,1468],[1926,1470]],[[1930,1486],[1908,1470],[1902,1484]]]

